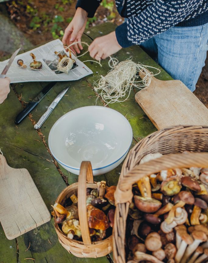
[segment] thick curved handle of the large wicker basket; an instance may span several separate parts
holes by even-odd
[[[123,165],[125,165],[124,163]],[[189,167],[208,167],[208,153],[207,152],[189,152],[189,153],[175,153],[166,154],[160,158],[136,165],[127,174],[122,174],[119,183],[114,193],[116,204],[131,202],[132,184],[137,182],[144,176],[149,176],[153,173],[158,173],[161,170],[174,168],[189,168]]]

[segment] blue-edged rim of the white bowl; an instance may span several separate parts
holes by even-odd
[[[74,110],[72,110],[72,111],[77,111],[77,110],[79,110],[79,109],[81,109],[81,108],[85,108],[85,107],[86,107],[86,108],[87,108],[87,107],[105,108],[105,107],[103,107],[103,106],[93,106],[93,105],[92,105],[92,106],[84,106],[84,107],[76,108],[76,109],[74,109]],[[106,109],[116,111],[116,110],[111,109],[111,108],[106,108]],[[72,111],[70,111],[70,112],[72,112]],[[69,114],[70,112],[65,113],[64,115],[67,115],[67,114]],[[117,113],[121,114],[121,113],[118,112],[118,111],[117,111]],[[61,118],[63,118],[64,115],[62,115],[58,120],[60,120]],[[133,131],[132,131],[132,127],[131,127],[129,121],[123,116],[123,114],[121,114],[121,116],[127,121],[128,125],[129,125],[130,128],[131,128],[131,142],[130,142],[130,145],[129,145],[127,151],[126,151],[119,159],[117,159],[116,161],[112,162],[111,164],[108,164],[108,165],[103,166],[103,167],[101,167],[101,168],[92,169],[93,171],[100,170],[100,169],[104,169],[104,168],[106,168],[106,167],[109,167],[109,166],[113,165],[114,163],[118,162],[118,161],[129,151],[129,149],[130,149],[130,147],[131,147],[131,144],[132,144],[132,140],[133,140]],[[58,120],[57,120],[57,121],[58,121]],[[56,122],[57,122],[57,121],[56,121]],[[54,125],[56,124],[56,122],[54,123]],[[54,127],[54,125],[52,126],[52,128]],[[51,128],[51,129],[52,129],[52,128]],[[51,132],[51,129],[50,129],[50,132]],[[53,151],[52,151],[52,149],[51,149],[51,147],[50,147],[50,142],[49,142],[50,132],[49,132],[49,136],[48,136],[48,143],[49,143],[49,149],[50,149],[51,154],[54,156],[54,158],[57,160],[57,162],[59,162],[59,163],[62,164],[63,166],[68,167],[68,168],[73,169],[73,170],[79,171],[80,168],[74,168],[74,167],[68,166],[68,165],[62,163],[61,161],[59,161],[59,160],[55,157],[55,155],[53,154]]]

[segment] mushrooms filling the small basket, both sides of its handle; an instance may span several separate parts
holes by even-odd
[[[115,214],[114,192],[116,186],[106,187],[106,182],[97,183],[97,189],[87,188],[87,218],[92,241],[100,241],[112,234]],[[69,239],[82,241],[78,217],[78,198],[76,194],[66,199],[63,205],[55,203],[55,222]]]

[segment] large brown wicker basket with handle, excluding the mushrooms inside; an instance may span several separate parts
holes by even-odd
[[[182,154],[182,151],[197,153]],[[160,152],[161,158],[138,165],[148,153]],[[200,153],[201,152],[201,153]],[[202,153],[203,152],[203,153]],[[171,168],[208,167],[208,127],[177,126],[154,132],[142,139],[129,152],[120,175],[116,192],[116,212],[113,228],[113,258],[125,263],[125,232],[132,184],[152,173]]]

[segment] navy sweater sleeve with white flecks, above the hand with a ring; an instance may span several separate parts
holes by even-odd
[[[199,5],[200,1],[196,0],[157,0],[116,28],[117,41],[122,47],[139,45],[177,25]]]

